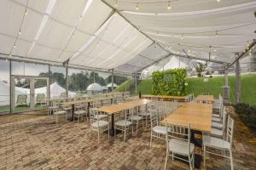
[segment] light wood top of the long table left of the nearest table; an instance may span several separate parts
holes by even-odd
[[[124,102],[119,105],[102,106],[102,107],[98,108],[97,111],[106,112],[109,115],[112,115],[119,111],[125,111],[127,109],[131,109],[131,108],[139,106],[139,105],[146,105],[150,102],[151,102],[151,100],[149,100],[149,99],[136,99],[136,100]]]

